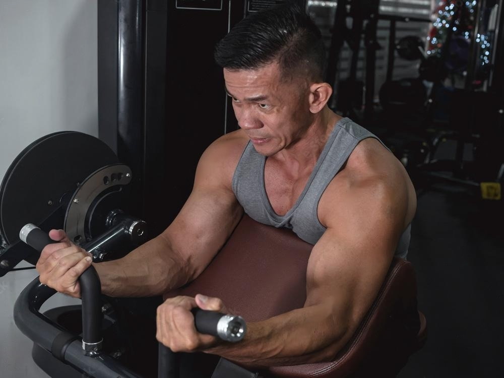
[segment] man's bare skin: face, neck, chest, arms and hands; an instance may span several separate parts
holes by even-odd
[[[287,80],[275,62],[256,70],[224,69],[224,79],[241,130],[205,151],[191,196],[161,235],[122,259],[94,264],[105,294],[158,295],[198,277],[243,214],[231,179],[249,140],[268,157],[266,192],[277,214],[287,213],[303,191],[340,118],[327,106],[331,87]],[[175,297],[158,308],[156,337],[174,351],[200,350],[250,366],[330,360],[375,298],[415,210],[415,191],[402,164],[379,142],[366,139],[319,202],[327,230],[308,261],[302,308],[247,324],[245,338],[231,344],[198,334],[190,312],[196,306],[226,312],[225,303],[204,295]],[[43,250],[37,264],[41,282],[79,296],[77,277],[90,265],[87,253],[62,231],[50,236],[63,242]]]

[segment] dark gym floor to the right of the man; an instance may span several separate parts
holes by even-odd
[[[504,206],[459,184],[421,186],[408,260],[428,336],[398,377],[502,377]]]

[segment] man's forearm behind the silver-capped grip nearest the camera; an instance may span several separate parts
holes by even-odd
[[[279,366],[330,360],[351,336],[325,304],[289,311],[247,324],[245,338],[206,352],[248,366]]]

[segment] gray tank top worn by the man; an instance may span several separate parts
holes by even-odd
[[[317,214],[319,200],[355,146],[366,138],[379,140],[349,118],[340,119],[329,136],[303,192],[294,206],[283,216],[275,213],[266,194],[264,183],[266,157],[259,154],[250,142],[245,147],[234,172],[233,192],[250,218],[263,224],[290,228],[304,241],[315,244],[326,231]],[[408,225],[399,240],[396,256],[406,258],[410,231],[411,225]]]

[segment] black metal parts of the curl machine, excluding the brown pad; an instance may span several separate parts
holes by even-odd
[[[146,223],[123,210],[128,207],[131,181],[130,168],[120,164],[108,146],[89,135],[54,133],[30,144],[11,164],[2,183],[0,275],[16,270],[21,260],[35,265],[44,246],[54,242],[47,234],[53,228],[64,229],[71,240],[92,254],[94,262],[117,259],[145,242]],[[16,233],[16,229],[20,231]],[[88,268],[79,281],[82,308],[67,306],[63,311],[41,314],[41,305],[55,290],[38,278],[16,301],[14,319],[34,341],[35,362],[51,376],[80,377],[84,373],[100,378],[139,377],[122,365],[119,357],[123,346],[117,337],[104,342],[103,335],[117,328],[117,320],[112,306],[101,296],[94,267]],[[196,310],[194,315],[199,332],[227,341],[241,340],[246,330],[243,319],[237,316],[204,310]],[[82,342],[79,335],[65,328],[75,323],[72,318],[76,316],[82,316]],[[159,376],[177,376],[168,364],[173,362],[171,352],[160,345],[159,354]],[[56,365],[51,366],[47,359]],[[66,365],[58,368],[57,360]]]

